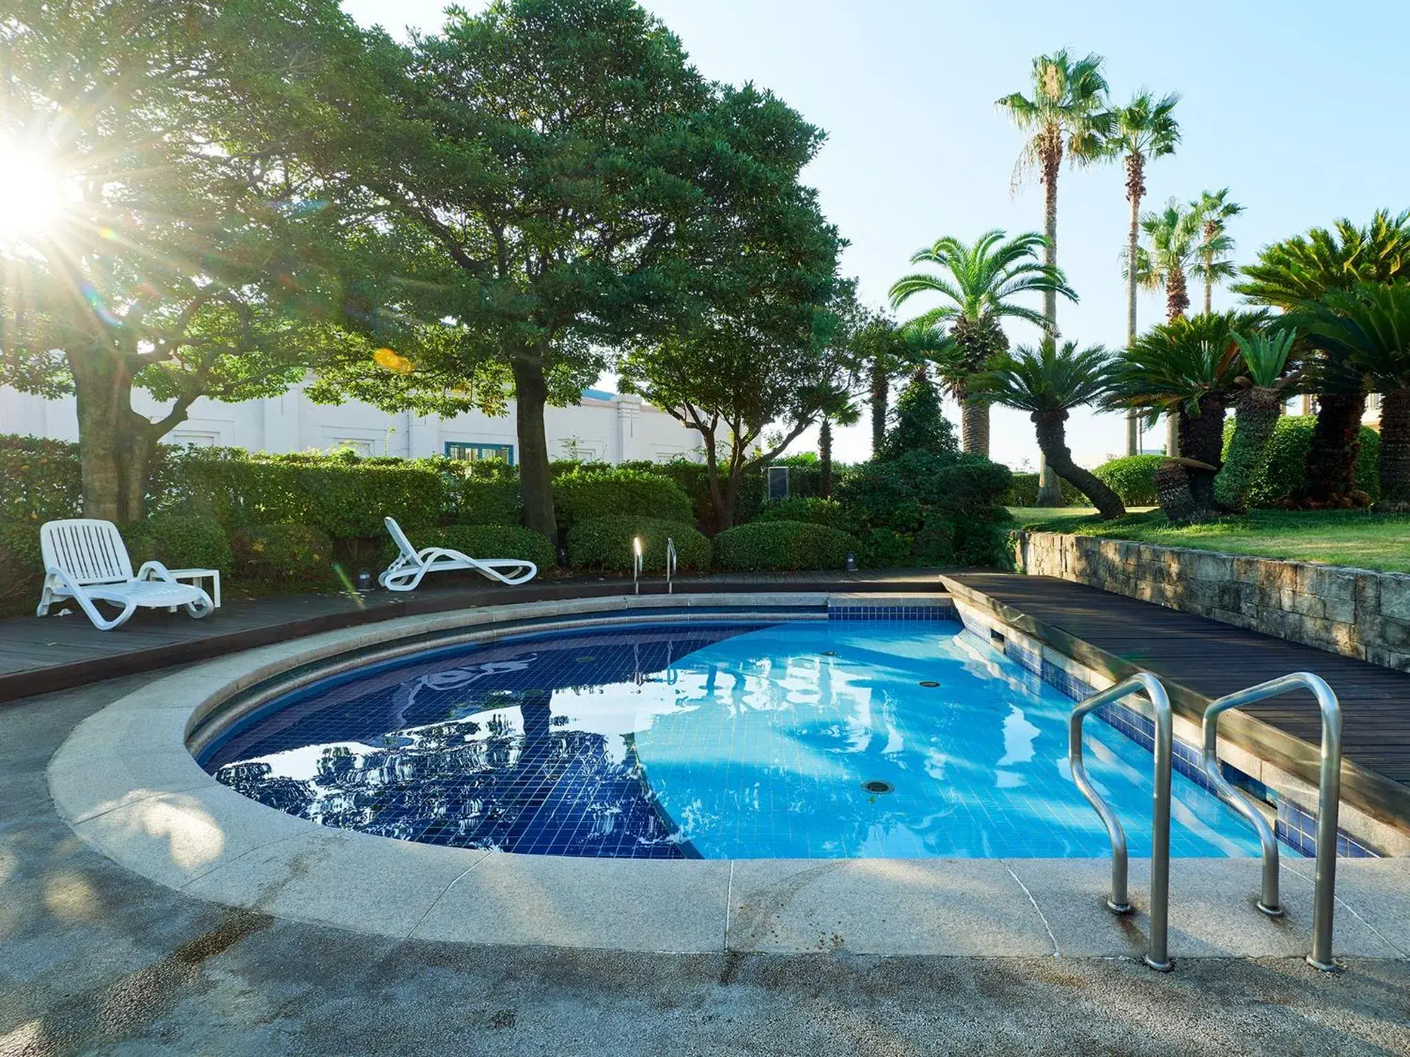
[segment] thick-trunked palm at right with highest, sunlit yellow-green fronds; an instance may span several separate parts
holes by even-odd
[[[1276,242],[1245,265],[1234,292],[1251,302],[1294,311],[1320,300],[1328,290],[1345,290],[1359,282],[1393,282],[1410,276],[1410,210],[1392,216],[1379,210],[1366,227],[1338,220]],[[1356,452],[1361,419],[1366,413],[1365,381],[1345,362],[1340,345],[1314,334],[1311,373],[1318,393],[1303,482],[1293,490],[1300,506],[1349,506],[1355,502]]]

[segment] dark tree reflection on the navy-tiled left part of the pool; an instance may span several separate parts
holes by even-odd
[[[554,724],[550,699],[539,689],[499,695],[503,710],[396,731],[385,748],[324,746],[309,779],[262,761],[227,764],[216,777],[324,826],[402,840],[680,857],[636,753],[615,761],[606,736]]]

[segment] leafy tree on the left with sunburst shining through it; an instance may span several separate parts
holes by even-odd
[[[0,151],[47,182],[7,203],[0,382],[75,393],[89,517],[144,516],[197,397],[279,392],[345,340],[345,214],[262,89],[357,39],[314,0],[21,0],[0,21]],[[134,386],[169,402],[155,421]]]

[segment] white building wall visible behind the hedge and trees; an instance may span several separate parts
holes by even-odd
[[[133,406],[154,420],[162,413],[162,404],[142,390],[133,390]],[[575,407],[548,407],[544,417],[550,458],[601,462],[702,458],[698,433],[639,396],[585,389]],[[75,441],[79,423],[73,397],[45,400],[0,386],[0,433]],[[166,434],[165,443],[271,452],[354,448],[364,455],[519,461],[513,402],[509,413],[499,417],[468,412],[441,419],[379,412],[357,400],[317,404],[303,396],[302,386],[283,396],[243,403],[196,400],[186,421]]]

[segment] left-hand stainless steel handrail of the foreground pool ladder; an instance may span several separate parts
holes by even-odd
[[[1131,903],[1127,901],[1127,834],[1121,829],[1110,805],[1101,799],[1101,793],[1087,778],[1087,768],[1081,761],[1081,722],[1103,705],[1125,698],[1128,693],[1145,691],[1155,710],[1155,792],[1153,817],[1151,826],[1151,943],[1145,956],[1145,963],[1159,972],[1169,972],[1172,967],[1166,951],[1166,933],[1170,919],[1170,754],[1173,741],[1173,719],[1170,716],[1170,698],[1165,686],[1153,675],[1141,672],[1129,679],[1122,679],[1115,686],[1096,693],[1072,710],[1067,723],[1067,762],[1072,768],[1072,779],[1081,789],[1081,795],[1097,809],[1107,836],[1111,837],[1111,898],[1107,906],[1112,913],[1129,913]]]

